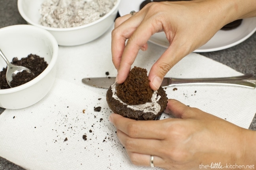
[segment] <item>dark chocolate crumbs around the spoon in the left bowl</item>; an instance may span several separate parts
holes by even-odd
[[[21,60],[18,60],[17,57],[14,57],[11,64],[26,67],[30,69],[32,73],[34,73],[34,76],[32,76],[32,74],[30,73],[27,73],[26,71],[18,73],[13,77],[13,80],[11,81],[12,87],[17,87],[25,84],[26,82],[29,82],[30,80],[33,80],[39,74],[41,74],[48,66],[44,58],[34,54],[30,54],[27,57],[21,58]],[[6,68],[3,68],[2,71],[0,71],[0,89],[10,88],[6,81],[6,71],[7,66]]]

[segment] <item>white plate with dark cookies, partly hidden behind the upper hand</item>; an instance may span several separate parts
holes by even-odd
[[[121,0],[119,5],[120,16],[129,14],[132,10],[139,11],[140,4],[143,1],[144,0]],[[196,49],[194,52],[218,51],[233,47],[249,38],[255,31],[256,17],[243,19],[239,27],[227,31],[218,31],[204,46]],[[155,33],[151,36],[149,41],[162,47],[169,47],[169,42],[164,32]]]

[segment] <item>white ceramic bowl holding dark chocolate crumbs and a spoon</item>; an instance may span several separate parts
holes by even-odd
[[[31,25],[15,25],[0,29],[0,48],[11,62],[36,54],[48,63],[47,68],[35,79],[15,88],[0,89],[0,107],[6,109],[26,108],[40,101],[50,91],[56,75],[58,43],[46,30]],[[0,58],[0,68],[6,68]]]

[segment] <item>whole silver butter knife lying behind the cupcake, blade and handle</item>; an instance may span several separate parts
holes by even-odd
[[[109,88],[116,80],[116,77],[93,77],[84,78],[82,82],[96,88]],[[195,79],[179,79],[173,77],[164,77],[161,86],[163,88],[177,85],[229,85],[241,86],[247,88],[256,87],[256,77],[251,74],[235,76],[235,77],[219,77],[219,78],[195,78]]]

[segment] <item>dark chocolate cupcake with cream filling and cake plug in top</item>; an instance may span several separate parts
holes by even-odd
[[[167,106],[167,95],[162,87],[151,90],[147,70],[131,69],[122,84],[114,82],[107,91],[110,109],[123,117],[135,120],[155,120]]]

